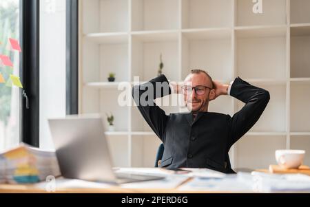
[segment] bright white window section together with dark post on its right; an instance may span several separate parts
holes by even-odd
[[[77,5],[76,0],[40,1],[41,149],[54,149],[48,119],[77,113]]]

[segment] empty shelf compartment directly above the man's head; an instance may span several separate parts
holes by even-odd
[[[231,80],[234,76],[231,47],[229,29],[183,32],[182,80],[191,69],[205,69],[214,80]]]

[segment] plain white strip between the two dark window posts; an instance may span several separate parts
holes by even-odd
[[[40,1],[40,148],[54,149],[48,118],[65,116],[65,1]]]

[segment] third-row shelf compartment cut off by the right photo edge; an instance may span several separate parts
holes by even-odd
[[[309,91],[310,84],[291,85],[291,132],[310,132]]]

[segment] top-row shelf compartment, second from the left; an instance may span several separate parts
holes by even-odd
[[[132,31],[180,28],[178,0],[132,0]]]

